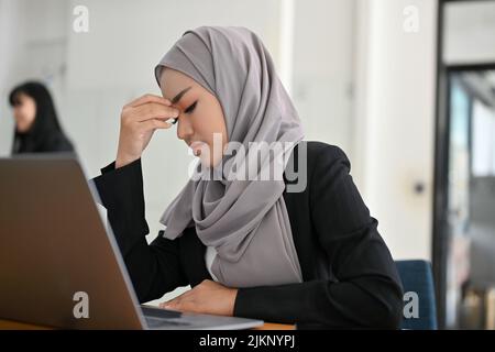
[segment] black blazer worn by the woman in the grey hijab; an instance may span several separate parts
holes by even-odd
[[[285,191],[284,199],[304,283],[240,288],[234,316],[298,328],[398,328],[400,279],[349,175],[348,157],[337,146],[301,143],[307,143],[307,187]],[[212,279],[194,228],[176,240],[160,231],[147,244],[140,160],[118,169],[112,163],[94,180],[141,302]]]

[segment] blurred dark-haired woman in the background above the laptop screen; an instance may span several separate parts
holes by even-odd
[[[74,152],[43,84],[26,81],[16,86],[9,95],[9,103],[15,119],[12,154]]]

